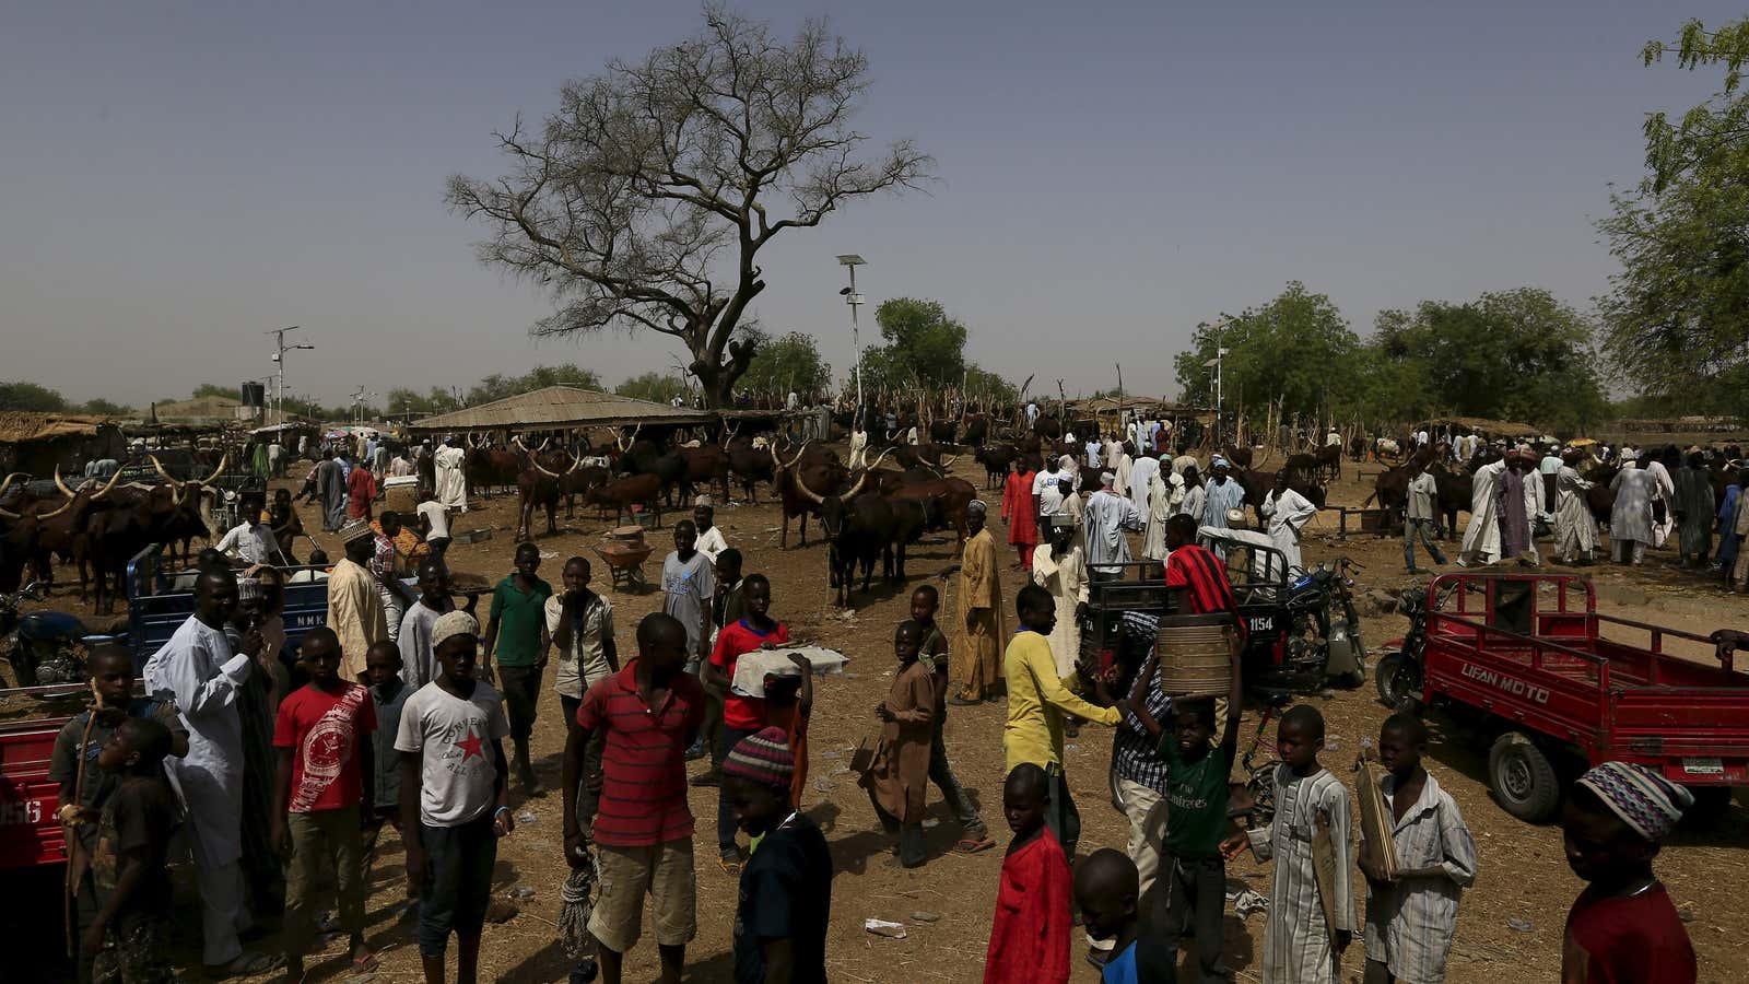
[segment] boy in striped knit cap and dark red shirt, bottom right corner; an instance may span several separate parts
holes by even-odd
[[[1562,984],[1695,984],[1695,947],[1651,870],[1693,793],[1627,762],[1604,762],[1567,793],[1567,865],[1586,881],[1560,947]]]

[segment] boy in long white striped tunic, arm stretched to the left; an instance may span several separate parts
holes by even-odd
[[[1324,714],[1317,707],[1300,704],[1282,714],[1275,748],[1282,756],[1275,770],[1275,819],[1245,832],[1252,854],[1275,861],[1270,924],[1263,931],[1263,984],[1338,984],[1341,951],[1354,942],[1355,930],[1348,790],[1317,762],[1324,748]],[[1327,837],[1334,853],[1327,902],[1319,893],[1315,837]],[[1242,846],[1231,839],[1223,853],[1231,858]]]

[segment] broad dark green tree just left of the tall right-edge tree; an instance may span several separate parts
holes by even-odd
[[[1604,410],[1593,333],[1590,319],[1548,291],[1518,287],[1464,305],[1422,301],[1413,313],[1383,312],[1373,345],[1385,366],[1413,368],[1399,383],[1425,387],[1399,418],[1441,410],[1574,427]],[[1410,396],[1399,389],[1399,399]]]

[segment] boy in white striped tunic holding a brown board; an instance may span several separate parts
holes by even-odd
[[[1397,870],[1383,879],[1361,849],[1366,984],[1441,984],[1459,896],[1476,882],[1476,840],[1457,800],[1422,769],[1425,749],[1427,725],[1413,714],[1392,714],[1378,730],[1378,760],[1389,769],[1380,790]]]

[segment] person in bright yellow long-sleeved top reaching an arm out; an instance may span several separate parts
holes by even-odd
[[[1051,629],[1056,627],[1056,602],[1051,592],[1027,585],[1020,588],[1014,609],[1021,629],[1014,632],[1002,657],[1007,674],[1007,725],[1002,728],[1002,751],[1007,755],[1009,772],[1025,762],[1044,769],[1051,797],[1044,807],[1044,823],[1062,842],[1063,853],[1074,858],[1076,840],[1081,839],[1081,812],[1069,798],[1069,781],[1063,776],[1063,716],[1074,714],[1111,727],[1118,723],[1119,714],[1111,707],[1111,693],[1097,674],[1090,678],[1079,667],[1069,676],[1056,674],[1049,641]],[[1091,686],[1095,700],[1104,706],[1083,700],[1077,695],[1083,686]]]

